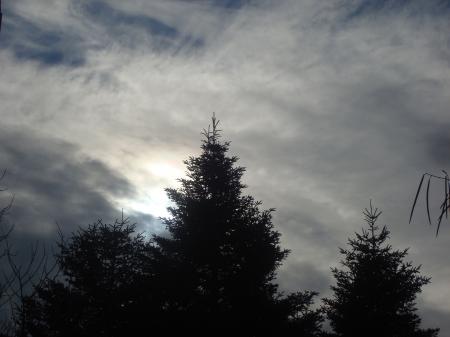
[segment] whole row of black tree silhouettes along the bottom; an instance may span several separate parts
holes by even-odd
[[[276,272],[289,251],[274,210],[243,193],[245,168],[228,154],[218,123],[213,117],[201,154],[184,162],[180,187],[167,189],[174,206],[164,234],[147,237],[123,216],[60,234],[55,268],[37,264],[45,272],[28,292],[16,292],[0,336],[438,335],[417,314],[416,296],[430,279],[405,261],[407,250],[387,243],[372,205],[366,228],[340,250],[330,298],[314,303],[315,291],[281,291]]]

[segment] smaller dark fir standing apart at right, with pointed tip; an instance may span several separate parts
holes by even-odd
[[[408,250],[393,250],[389,231],[375,225],[381,212],[370,205],[364,210],[368,229],[349,239],[341,249],[343,269],[334,268],[337,284],[324,309],[336,336],[433,337],[438,329],[420,329],[416,295],[430,279],[420,267],[404,262]]]

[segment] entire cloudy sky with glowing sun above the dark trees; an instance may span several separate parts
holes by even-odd
[[[14,0],[0,32],[2,201],[16,240],[121,212],[161,233],[164,188],[212,113],[276,208],[286,291],[330,296],[339,247],[383,211],[394,248],[432,278],[425,327],[450,335],[450,222],[420,177],[450,169],[448,0]],[[433,219],[442,196],[431,185]]]

